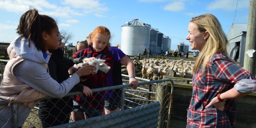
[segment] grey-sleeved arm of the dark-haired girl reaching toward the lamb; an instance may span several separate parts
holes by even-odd
[[[33,61],[23,61],[14,69],[14,75],[18,80],[24,82],[38,92],[55,98],[64,97],[74,85],[80,82],[80,76],[91,74],[95,66],[83,66],[70,78],[58,83],[55,81],[45,69],[43,64]]]

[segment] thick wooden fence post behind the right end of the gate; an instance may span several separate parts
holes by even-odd
[[[158,128],[163,128],[167,124],[168,118],[168,84],[157,84],[156,85],[156,101],[160,103],[159,121]]]

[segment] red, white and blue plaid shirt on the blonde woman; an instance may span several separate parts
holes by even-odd
[[[214,106],[205,109],[205,106],[218,93],[233,88],[235,83],[242,79],[255,80],[254,76],[222,53],[214,54],[204,73],[201,74],[201,71],[202,66],[193,75],[193,93],[187,114],[187,128],[234,127],[237,99],[226,100],[224,111],[219,111]]]

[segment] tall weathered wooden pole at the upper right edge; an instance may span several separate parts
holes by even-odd
[[[253,53],[253,57],[249,57],[246,51],[249,49],[256,50],[256,0],[250,0],[249,4],[249,17],[247,25],[247,35],[246,35],[246,47],[244,55],[244,69],[251,72],[256,76],[256,52]]]

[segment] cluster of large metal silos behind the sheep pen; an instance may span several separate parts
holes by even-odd
[[[150,24],[134,19],[126,22],[121,28],[121,50],[126,55],[142,54],[144,47],[147,52],[151,49],[153,55],[171,50],[171,39],[157,28],[152,28]]]

